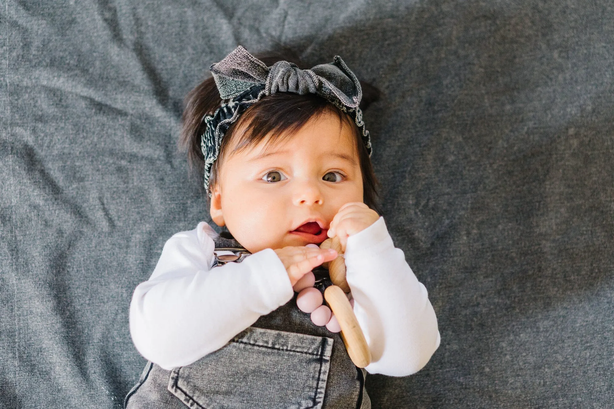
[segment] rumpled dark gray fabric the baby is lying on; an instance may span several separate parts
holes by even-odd
[[[117,408],[131,293],[208,220],[184,95],[236,45],[341,55],[384,217],[441,346],[376,408],[614,405],[614,6],[581,1],[3,1],[0,406]]]

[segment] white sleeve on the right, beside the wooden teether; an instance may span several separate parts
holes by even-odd
[[[418,372],[439,346],[437,317],[384,218],[349,236],[344,255],[354,313],[373,358],[365,369],[390,376]]]

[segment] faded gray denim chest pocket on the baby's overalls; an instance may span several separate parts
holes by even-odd
[[[190,408],[321,408],[333,340],[249,327],[174,368],[168,390]]]

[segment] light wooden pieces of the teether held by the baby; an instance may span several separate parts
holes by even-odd
[[[335,249],[339,254],[335,260],[325,263],[324,267],[328,268],[330,281],[333,282],[324,290],[324,299],[333,311],[339,326],[341,327],[341,339],[348,350],[348,355],[354,365],[359,368],[364,368],[371,363],[371,351],[367,345],[365,335],[360,329],[352,305],[348,301],[346,292],[349,292],[348,281],[346,281],[345,260],[341,256],[341,243],[337,237],[325,240],[321,245],[321,249]]]

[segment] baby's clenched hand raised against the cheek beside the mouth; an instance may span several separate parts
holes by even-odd
[[[362,232],[379,219],[379,214],[367,204],[352,201],[341,206],[328,227],[328,237],[338,236],[341,247],[345,250],[348,237]]]

